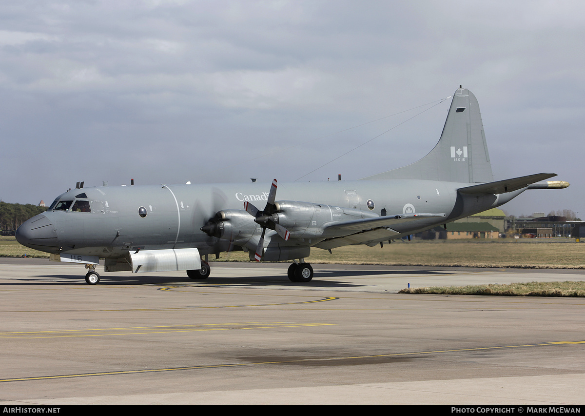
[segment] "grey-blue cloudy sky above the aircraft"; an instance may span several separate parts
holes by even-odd
[[[571,183],[503,208],[583,216],[584,41],[583,1],[2,2],[0,198],[369,176],[428,153],[462,84],[497,180]]]

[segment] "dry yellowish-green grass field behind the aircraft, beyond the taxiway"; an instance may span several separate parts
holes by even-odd
[[[313,248],[313,264],[378,264],[387,266],[504,267],[522,269],[585,269],[585,243],[569,239],[503,239],[490,241],[436,240],[395,242],[384,247],[346,246]],[[49,257],[19,245],[15,238],[0,238],[0,257]],[[210,255],[210,260],[213,255]],[[219,262],[249,262],[247,253],[221,253]]]

